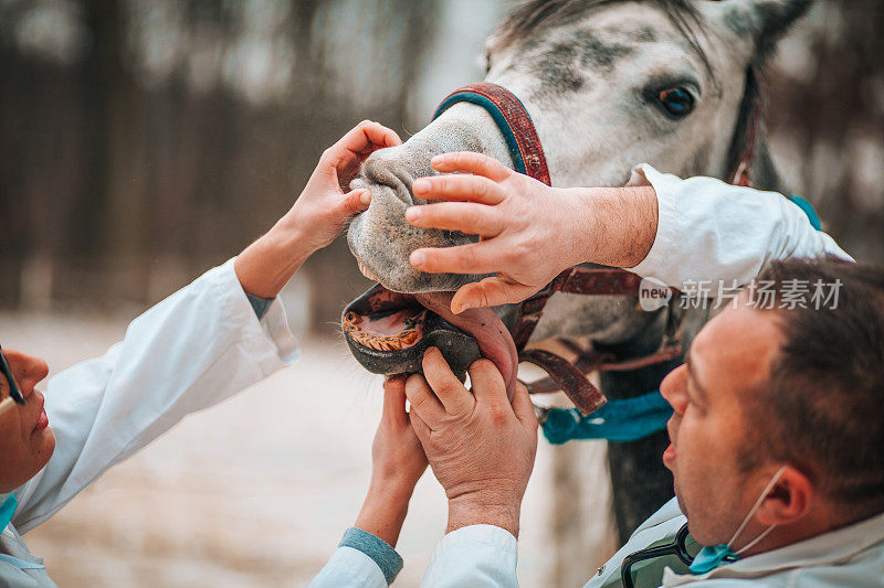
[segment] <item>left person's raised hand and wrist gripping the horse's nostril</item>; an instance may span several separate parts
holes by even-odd
[[[345,193],[366,158],[401,142],[387,127],[364,120],[326,149],[292,209],[236,258],[243,290],[274,298],[311,255],[335,240],[350,216],[368,209],[368,190]]]

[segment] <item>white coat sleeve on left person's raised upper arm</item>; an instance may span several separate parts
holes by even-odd
[[[14,525],[21,533],[33,528],[186,415],[298,355],[278,300],[259,321],[233,259],[211,269],[135,319],[104,356],[50,379],[45,410],[55,452],[15,490]]]

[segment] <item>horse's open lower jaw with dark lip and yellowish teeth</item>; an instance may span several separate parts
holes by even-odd
[[[375,374],[422,373],[428,348],[438,348],[457,376],[481,357],[471,334],[427,310],[413,296],[380,284],[344,309],[341,330],[356,361]]]

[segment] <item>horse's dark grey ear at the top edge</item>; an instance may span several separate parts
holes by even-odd
[[[813,0],[725,0],[719,3],[724,23],[755,44],[754,62],[764,62]]]

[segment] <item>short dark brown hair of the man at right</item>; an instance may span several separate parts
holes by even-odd
[[[775,263],[750,289],[771,286],[785,342],[770,379],[747,404],[761,459],[788,462],[842,512],[884,511],[884,269],[834,258]],[[838,298],[811,300],[815,287]],[[807,288],[807,308],[788,302]],[[782,307],[786,308],[782,308]],[[817,308],[819,307],[819,309]],[[760,307],[762,308],[762,307]]]

